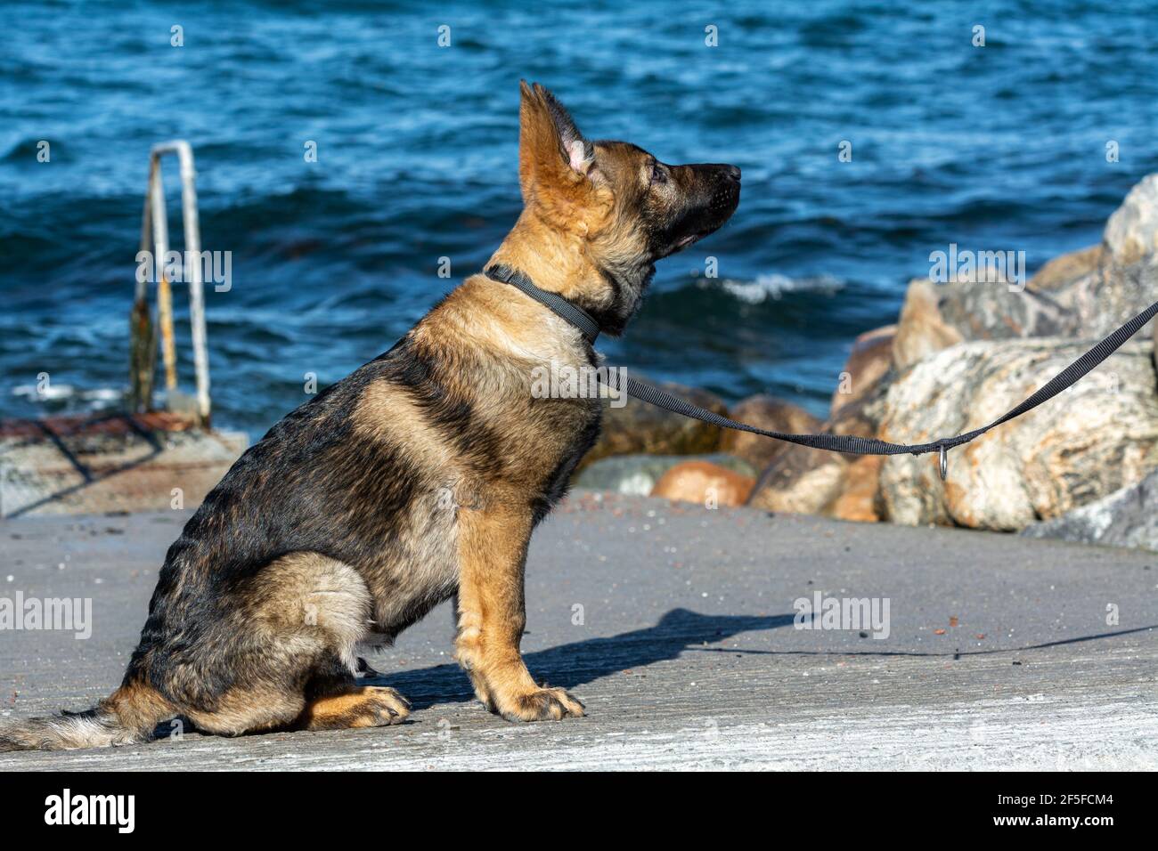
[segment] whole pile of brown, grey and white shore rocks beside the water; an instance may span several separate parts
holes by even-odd
[[[666,387],[763,428],[924,442],[996,419],[1156,299],[1158,174],[1129,192],[1100,244],[1056,257],[1028,283],[913,280],[896,324],[853,342],[824,421],[771,396],[728,408]],[[945,482],[936,456],[818,452],[631,399],[608,408],[576,484],[1158,551],[1155,324],[1057,398],[952,450]]]

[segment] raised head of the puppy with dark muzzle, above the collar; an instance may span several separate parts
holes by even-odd
[[[623,141],[591,141],[555,96],[521,83],[519,183],[523,217],[563,235],[579,272],[564,295],[620,333],[655,261],[718,229],[740,203],[740,169],[670,166]]]

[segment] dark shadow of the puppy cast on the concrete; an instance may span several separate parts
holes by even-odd
[[[794,615],[701,615],[672,609],[654,626],[621,632],[609,638],[587,638],[557,647],[526,653],[523,659],[537,681],[573,689],[610,674],[644,668],[652,662],[676,659],[689,647],[720,641],[739,632],[787,626]],[[742,653],[743,651],[735,651]],[[367,660],[373,666],[374,660]],[[435,703],[472,700],[474,691],[457,665],[435,665],[397,674],[373,672],[362,681],[390,685],[401,691],[416,710]]]

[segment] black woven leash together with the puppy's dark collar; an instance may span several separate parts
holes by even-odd
[[[572,305],[570,301],[566,301],[559,295],[556,295],[555,293],[548,293],[544,289],[540,289],[522,272],[512,270],[508,266],[496,265],[485,269],[484,274],[492,280],[511,284],[518,287],[535,301],[550,308],[572,325],[578,328],[588,342],[594,343],[595,338],[599,336],[599,323],[595,322],[591,314],[576,305]],[[690,417],[691,419],[698,419],[710,425],[719,426],[721,428],[735,428],[738,431],[750,432],[753,434],[761,434],[765,438],[784,440],[790,443],[798,443],[799,446],[807,446],[813,449],[828,449],[829,452],[841,452],[853,455],[924,455],[925,453],[936,452],[940,455],[940,476],[944,479],[947,471],[946,453],[950,449],[980,438],[990,428],[995,428],[1003,423],[1007,423],[1014,417],[1020,417],[1023,413],[1032,411],[1043,402],[1048,402],[1057,394],[1069,389],[1086,373],[1120,349],[1126,340],[1137,333],[1138,330],[1156,315],[1158,315],[1158,302],[1155,302],[1116,331],[1107,336],[1098,345],[1050,379],[1048,383],[1039,388],[1032,396],[1025,399],[1025,402],[998,417],[989,425],[975,428],[972,432],[966,432],[965,434],[958,434],[955,438],[941,438],[940,440],[935,440],[931,443],[889,443],[885,440],[877,440],[874,438],[857,438],[848,434],[785,434],[784,432],[771,432],[764,428],[747,425],[746,423],[736,423],[727,417],[721,417],[718,413],[713,413],[712,411],[701,408],[699,405],[694,405],[687,399],[675,396],[667,390],[655,387],[654,384],[637,381],[631,376],[625,376],[623,382],[624,386],[622,388],[615,387],[614,384],[608,384],[608,387],[615,390],[626,390],[629,396],[635,396],[640,402],[646,402],[650,405],[664,408],[673,413]]]

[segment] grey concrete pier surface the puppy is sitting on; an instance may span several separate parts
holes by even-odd
[[[90,599],[91,637],[0,632],[0,718],[119,682],[188,512],[0,523],[0,597]],[[887,637],[798,604],[888,601]],[[446,606],[369,663],[406,724],[3,754],[3,769],[1156,769],[1153,553],[580,492],[536,533],[527,663],[588,717],[474,700]],[[829,624],[831,626],[831,624]]]

